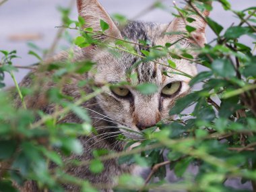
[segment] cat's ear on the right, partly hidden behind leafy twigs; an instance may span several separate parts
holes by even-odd
[[[197,1],[197,3],[199,3],[199,1]],[[212,5],[212,1],[207,1],[207,4]],[[197,11],[195,11],[195,9]],[[191,3],[191,5],[187,5],[185,7],[185,11],[189,13],[189,20],[192,20],[193,22],[189,23],[183,17],[174,18],[174,20],[172,20],[172,22],[168,26],[166,32],[187,32],[186,26],[191,26],[192,28],[196,29],[195,31],[191,32],[193,38],[197,41],[196,44],[203,46],[206,43],[205,28],[207,26],[207,23],[203,18],[207,17],[210,14],[210,11],[206,9],[204,11],[200,11],[194,3]]]

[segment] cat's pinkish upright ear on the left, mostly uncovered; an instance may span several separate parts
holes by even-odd
[[[77,9],[79,16],[86,22],[84,28],[93,28],[94,32],[101,31],[100,20],[103,20],[108,24],[108,30],[104,33],[121,38],[121,32],[97,0],[77,0]],[[96,38],[104,40],[107,37],[100,35]]]

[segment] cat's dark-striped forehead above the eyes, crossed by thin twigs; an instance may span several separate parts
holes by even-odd
[[[149,46],[164,45],[166,42],[163,41],[163,33],[166,26],[152,22],[129,22],[125,27],[121,28],[121,34],[123,38],[127,38],[132,42],[143,40]],[[143,55],[141,50],[145,50],[145,46],[140,44],[133,44],[133,46],[139,55]],[[183,81],[185,79],[182,75],[169,73],[166,76],[164,74],[166,71],[173,71],[170,67],[164,66],[168,65],[166,57],[158,59],[158,63],[164,64],[159,65],[153,61],[143,62],[140,57],[130,53],[121,52],[119,57],[117,57],[104,50],[97,54],[96,63],[98,63],[98,75],[96,79],[103,82],[129,81],[129,74],[134,73],[137,74],[137,84],[150,82],[156,85],[162,85],[171,81]],[[177,69],[181,69],[187,73],[193,73],[196,70],[195,66],[187,64],[187,61],[177,61]]]

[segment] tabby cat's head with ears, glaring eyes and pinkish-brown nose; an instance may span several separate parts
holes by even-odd
[[[186,32],[185,23],[182,18],[174,18],[170,24],[153,24],[148,22],[129,22],[125,27],[119,29],[117,24],[111,20],[110,16],[97,0],[77,0],[79,15],[86,21],[86,28],[92,27],[94,31],[100,31],[100,20],[104,20],[109,25],[106,30],[107,36],[98,36],[100,40],[111,42],[110,38],[128,38],[132,42],[144,40],[149,46],[162,45],[166,42],[176,42],[181,38],[180,34],[170,35],[166,32]],[[203,15],[207,15],[207,11]],[[205,43],[206,24],[197,15],[191,15],[195,21],[190,24],[197,28],[193,32],[194,39],[180,40],[174,46],[189,49],[193,44],[203,46]],[[146,49],[141,45],[135,45],[138,54],[143,55],[139,50]],[[191,53],[194,57],[195,53]],[[96,73],[92,75],[96,84],[119,82],[130,82],[131,86],[112,88],[104,94],[97,96],[98,104],[105,115],[115,120],[119,127],[127,127],[133,131],[141,131],[152,127],[163,119],[168,119],[168,112],[174,105],[177,98],[184,96],[190,90],[189,77],[175,73],[164,74],[164,71],[177,72],[168,67],[168,59],[174,61],[177,69],[194,76],[197,73],[195,63],[185,59],[172,59],[162,57],[153,61],[142,62],[137,65],[141,58],[124,51],[119,51],[119,57],[110,51],[101,48],[94,48],[92,60],[96,62]],[[164,65],[161,65],[162,63]],[[137,74],[137,78],[132,79],[129,74]],[[137,84],[151,83],[158,86],[158,92],[150,95],[141,94],[133,86]],[[137,137],[136,133],[121,129],[127,137]]]

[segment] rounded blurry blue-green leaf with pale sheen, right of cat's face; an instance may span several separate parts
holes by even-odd
[[[234,77],[236,71],[228,59],[216,59],[212,63],[212,71],[221,77]]]

